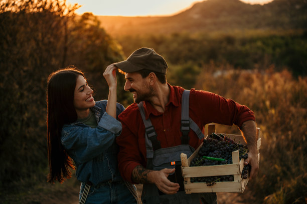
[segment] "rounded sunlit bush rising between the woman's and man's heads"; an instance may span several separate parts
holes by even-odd
[[[100,21],[92,13],[76,17],[68,27],[67,59],[65,65],[74,64],[85,72],[89,84],[94,89],[95,99],[108,97],[108,85],[102,73],[108,64],[123,60],[121,46],[105,32]],[[123,90],[124,77],[117,76],[118,101],[123,105],[128,93]]]

